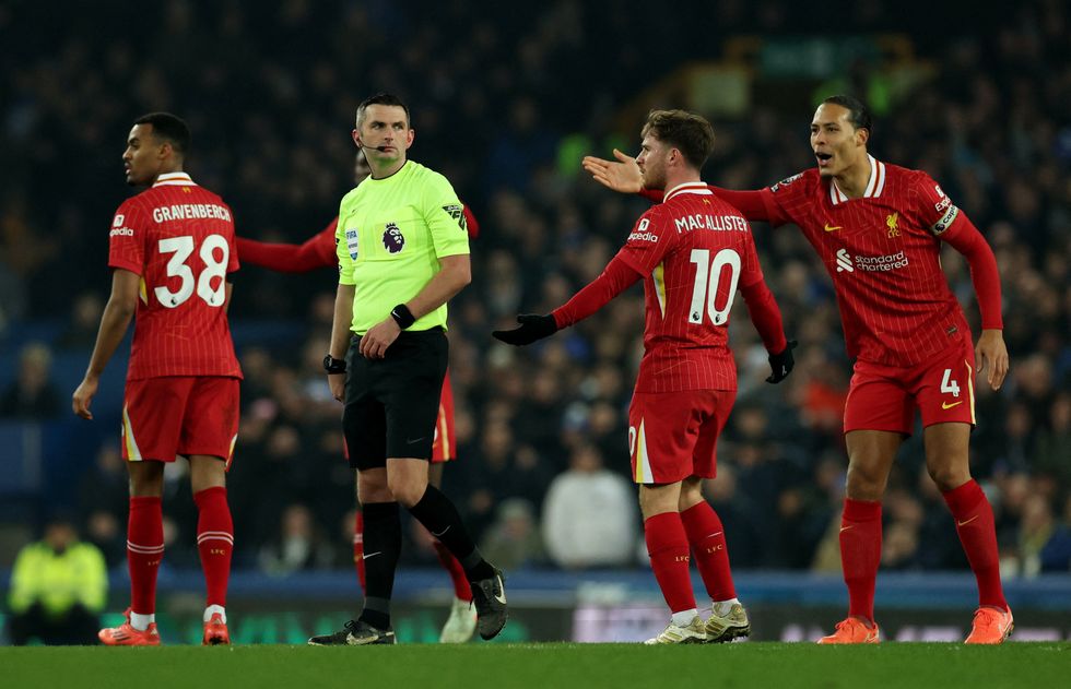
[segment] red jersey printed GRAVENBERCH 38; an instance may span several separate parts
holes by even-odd
[[[223,306],[238,270],[231,209],[185,173],[161,175],[111,222],[108,265],[141,275],[128,380],[242,377]]]

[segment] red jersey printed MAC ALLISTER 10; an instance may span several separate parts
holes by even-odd
[[[647,319],[637,392],[735,390],[729,310],[763,278],[751,226],[702,182],[644,213],[617,253],[644,275]]]

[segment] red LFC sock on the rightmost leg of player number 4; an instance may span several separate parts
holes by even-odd
[[[967,561],[978,581],[978,605],[1008,609],[1000,584],[1000,557],[993,510],[978,482],[970,479],[944,494],[944,501],[956,520],[956,532]]]

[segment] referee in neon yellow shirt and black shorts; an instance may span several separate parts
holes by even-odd
[[[399,502],[461,562],[480,635],[493,639],[506,623],[502,572],[476,550],[450,499],[427,483],[448,354],[446,302],[471,273],[461,202],[445,177],[405,159],[414,135],[396,96],[357,106],[353,141],[372,175],[339,209],[339,292],[323,367],[331,394],[345,405],[342,428],[364,509],[366,591],[361,616],[313,637],[313,645],[395,643]]]

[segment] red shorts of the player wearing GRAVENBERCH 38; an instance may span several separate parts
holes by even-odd
[[[122,403],[122,458],[174,462],[207,454],[231,466],[238,438],[238,379],[168,376],[128,380]]]

